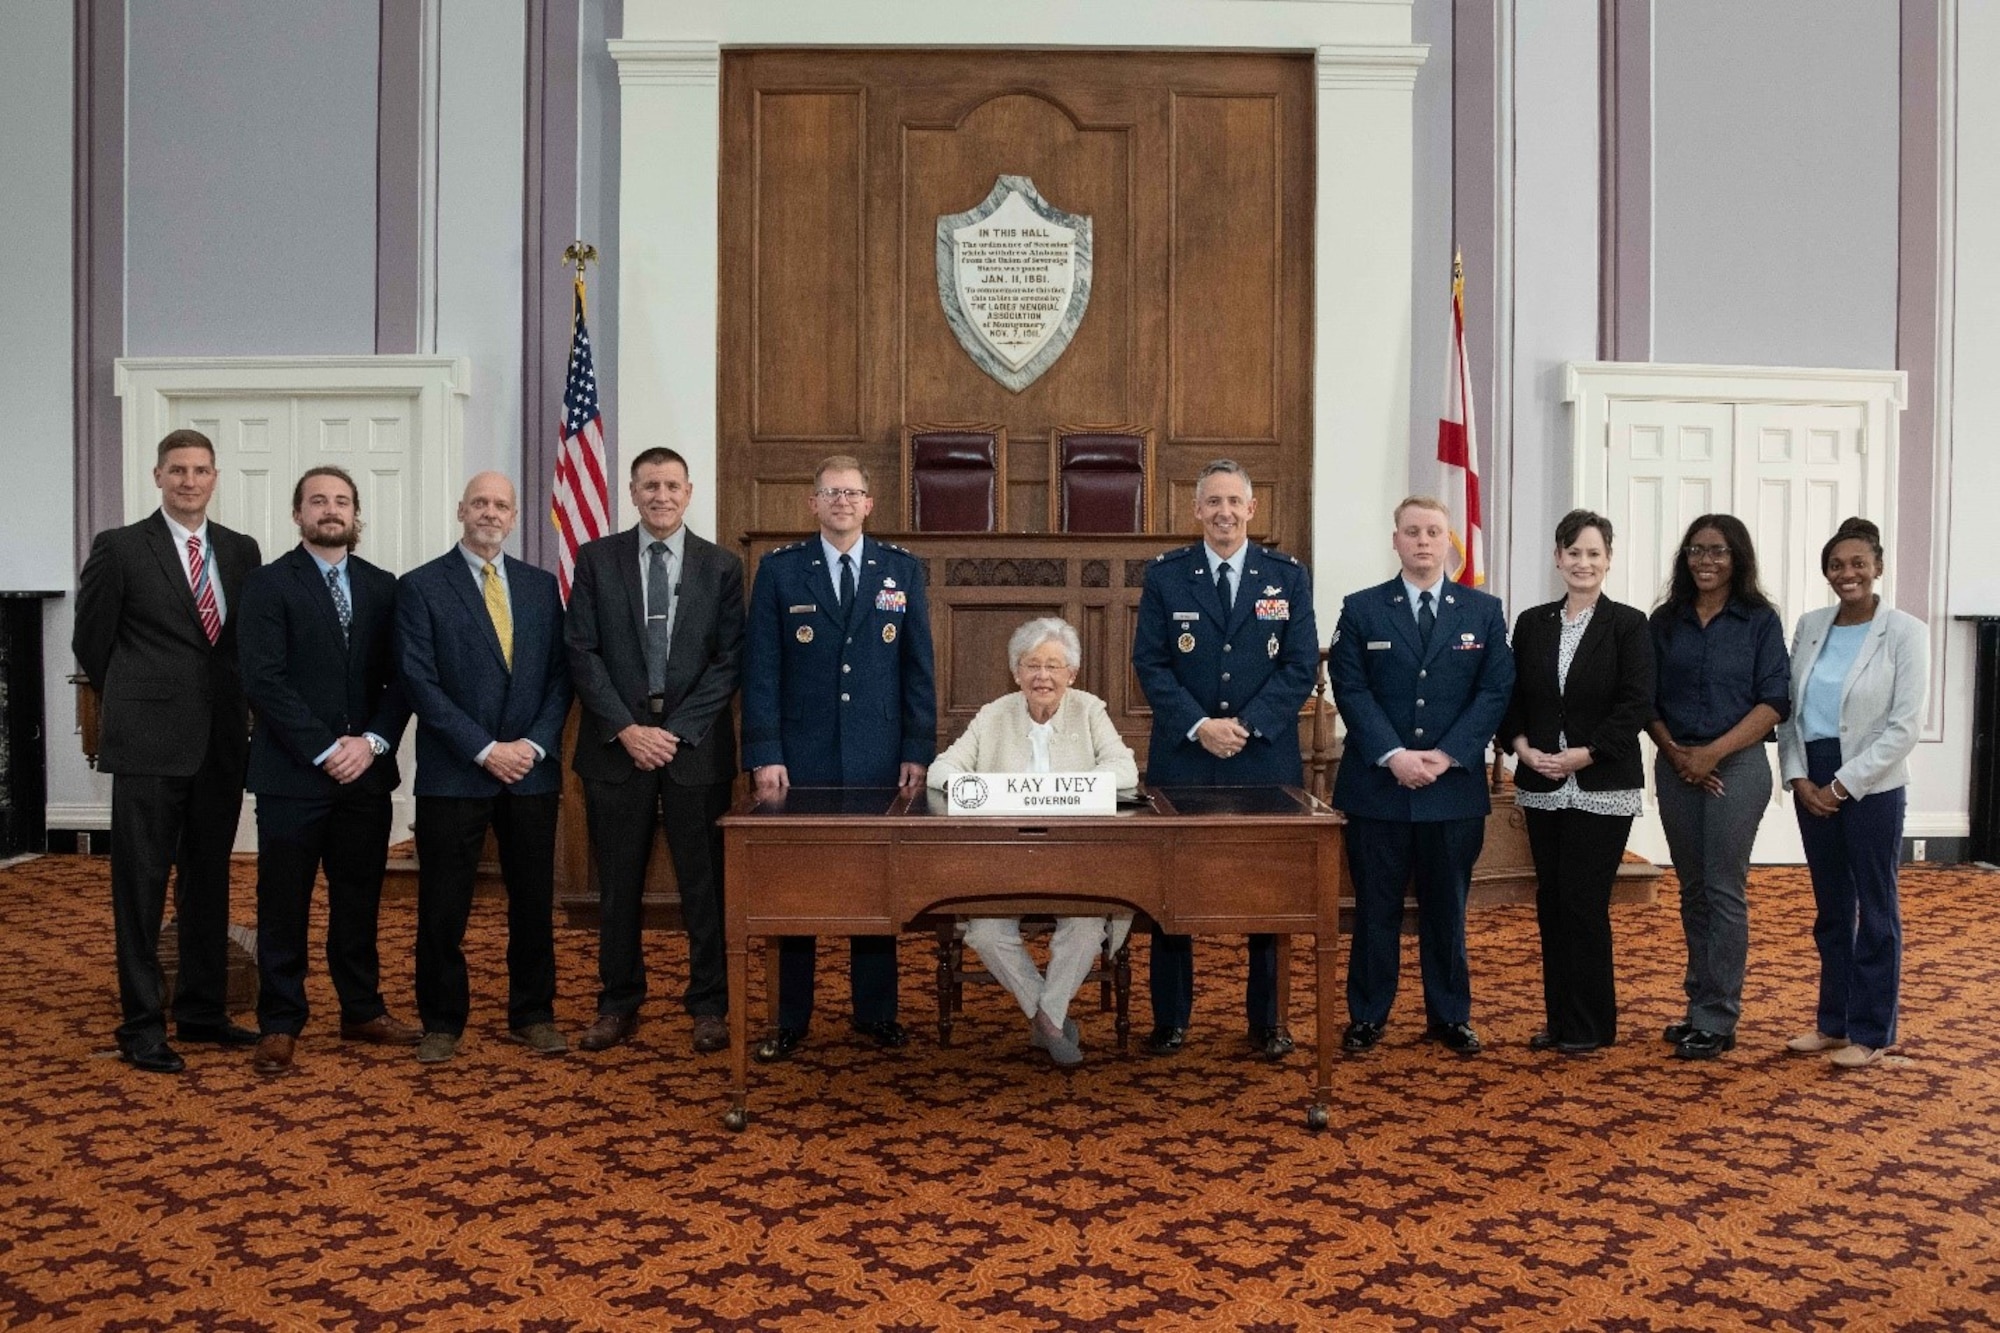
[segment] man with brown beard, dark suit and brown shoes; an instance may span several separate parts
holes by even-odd
[[[382,1003],[376,911],[388,865],[396,747],[410,721],[396,683],[396,576],[354,554],[362,500],[344,468],[292,488],[298,546],[244,580],[238,648],[256,713],[256,1017],[260,1075],[292,1069],[306,1029],[306,913],[326,871],[326,969],[340,1039],[414,1047]]]

